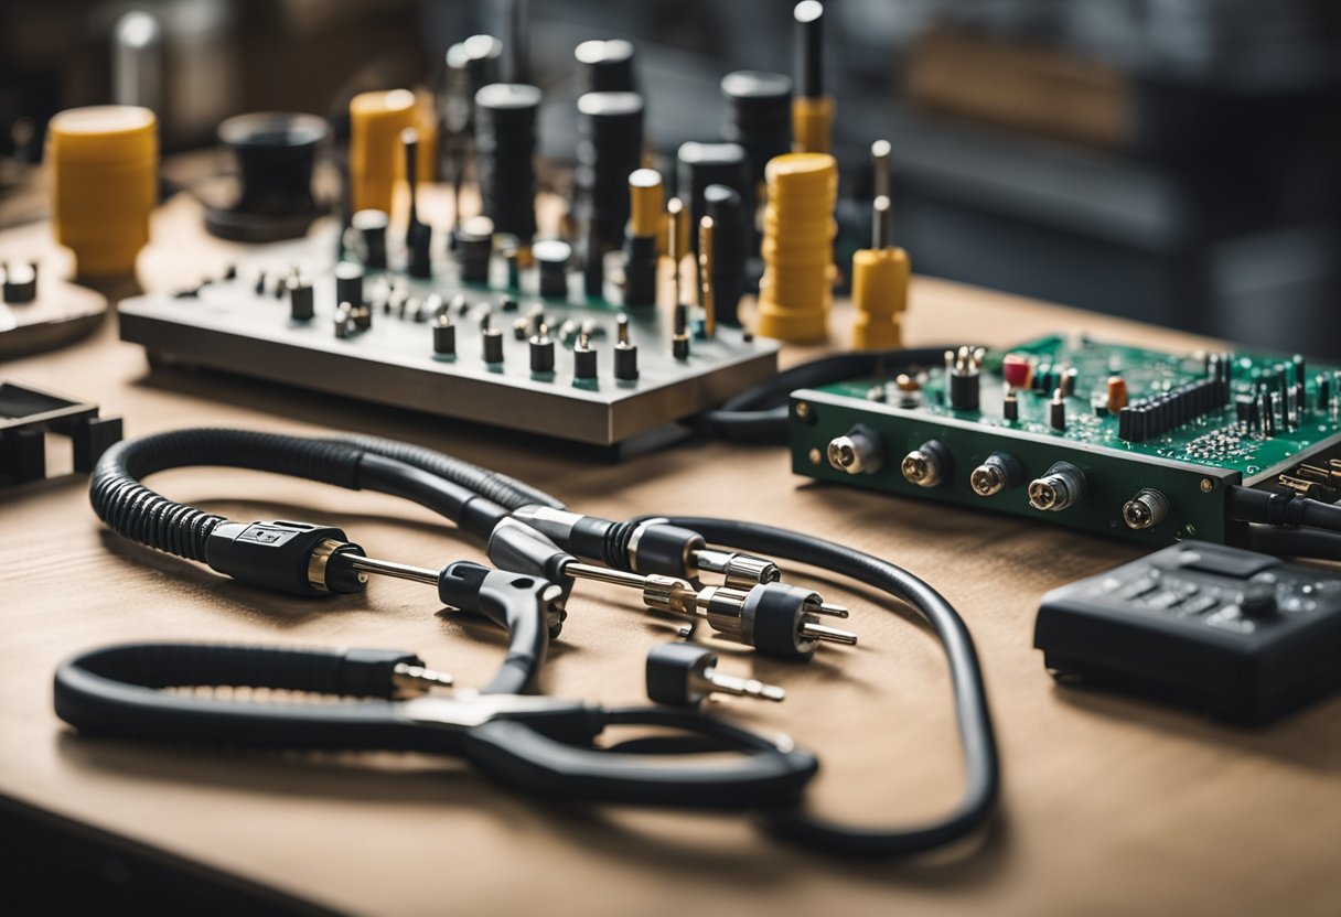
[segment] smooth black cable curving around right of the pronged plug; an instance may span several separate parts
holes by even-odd
[[[1000,794],[996,739],[974,641],[949,602],[907,570],[833,542],[730,519],[677,516],[669,523],[701,532],[713,544],[787,558],[880,589],[912,605],[945,649],[966,770],[964,794],[955,808],[927,824],[893,829],[838,824],[799,808],[771,810],[763,814],[771,833],[834,853],[900,855],[940,847],[987,824]]]

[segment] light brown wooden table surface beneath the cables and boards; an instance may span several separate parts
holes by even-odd
[[[182,257],[198,235],[178,202],[141,259],[149,288],[219,269],[231,247]],[[0,255],[48,248],[34,228]],[[842,312],[834,327],[845,324]],[[909,343],[1008,345],[1088,328],[1153,345],[1191,338],[957,284],[917,279]],[[797,358],[799,354],[790,354]],[[109,323],[64,350],[0,365],[7,378],[98,401],[127,436],[215,424],[294,433],[362,430],[504,471],[611,519],[730,515],[799,528],[889,558],[937,587],[972,631],[1004,768],[1000,816],[974,843],[911,862],[797,850],[748,820],[618,807],[548,807],[426,756],[276,756],[84,740],[51,709],[64,657],[111,641],[217,639],[417,650],[480,684],[503,638],[441,613],[422,586],[298,601],[109,535],[86,479],[0,491],[0,794],[320,906],[388,914],[1306,914],[1341,913],[1341,700],[1261,731],[1057,688],[1031,649],[1049,589],[1134,558],[1120,542],[794,477],[778,448],[691,444],[595,464],[451,421],[217,374],[150,371]],[[434,566],[483,559],[426,511],[390,497],[228,469],[152,484],[239,519],[343,526],[370,554]],[[805,571],[798,571],[805,572]],[[856,649],[809,665],[717,646],[723,666],[784,685],[787,701],[721,705],[786,731],[822,759],[810,802],[864,823],[925,819],[961,778],[945,665],[909,613],[815,582],[853,609]],[[640,702],[644,654],[670,627],[621,590],[582,586],[540,686]]]

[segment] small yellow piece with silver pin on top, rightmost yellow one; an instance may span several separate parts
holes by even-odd
[[[877,197],[873,209],[874,241],[852,256],[852,302],[857,307],[852,342],[857,350],[893,350],[904,346],[912,261],[892,244],[889,198]]]

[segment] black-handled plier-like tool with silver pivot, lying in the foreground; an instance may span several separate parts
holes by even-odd
[[[693,712],[461,690],[428,696],[429,688],[447,684],[448,676],[396,650],[127,644],[64,662],[56,670],[55,705],[60,719],[86,735],[453,755],[522,791],[589,802],[774,806],[794,800],[818,770],[815,757],[789,740],[770,740]],[[202,685],[366,700],[263,704],[161,690]],[[406,693],[417,696],[398,698]],[[739,755],[668,764],[602,751],[591,743],[607,725],[679,729],[711,751]]]

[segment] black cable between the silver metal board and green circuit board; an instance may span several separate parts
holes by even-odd
[[[695,429],[700,436],[730,442],[786,444],[786,401],[797,389],[939,363],[945,350],[957,346],[852,351],[801,363],[746,389],[720,408],[703,412],[693,418]]]

